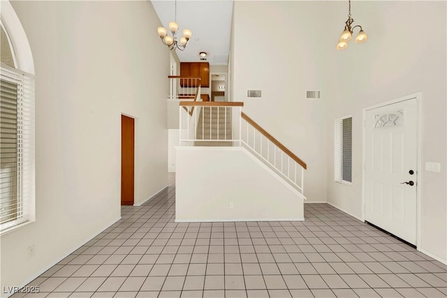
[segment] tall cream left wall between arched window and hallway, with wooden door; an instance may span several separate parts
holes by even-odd
[[[1,236],[1,286],[23,285],[120,218],[122,113],[135,117],[135,203],[168,184],[169,52],[152,4],[13,7],[36,70],[36,222]]]

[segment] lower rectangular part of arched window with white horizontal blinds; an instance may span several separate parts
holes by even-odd
[[[27,221],[34,221],[34,77],[1,64],[1,233]]]

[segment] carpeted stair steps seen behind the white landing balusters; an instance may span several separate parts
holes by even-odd
[[[226,107],[202,107],[198,117],[195,146],[232,147],[233,129],[231,113]],[[203,140],[203,141],[201,141]]]

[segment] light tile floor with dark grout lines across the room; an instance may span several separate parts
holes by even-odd
[[[446,265],[328,204],[305,204],[304,222],[174,219],[171,184],[25,297],[447,297]]]

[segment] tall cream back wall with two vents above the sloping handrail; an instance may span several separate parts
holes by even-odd
[[[307,163],[305,195],[314,202],[327,196],[328,99],[305,100],[305,90],[324,87],[325,50],[314,40],[328,13],[320,1],[235,1],[230,43],[231,100]],[[247,98],[247,89],[263,98]]]

